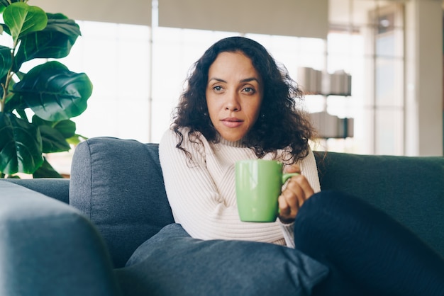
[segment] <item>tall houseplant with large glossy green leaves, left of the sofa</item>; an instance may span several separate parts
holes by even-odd
[[[18,172],[61,177],[45,154],[82,140],[70,118],[87,108],[92,84],[87,74],[54,60],[70,53],[79,25],[27,2],[0,0],[0,30],[11,37],[8,46],[0,45],[0,178]],[[23,73],[22,65],[33,59],[45,62]]]

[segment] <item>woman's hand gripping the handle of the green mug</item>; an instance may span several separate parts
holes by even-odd
[[[313,195],[309,181],[302,176],[301,169],[297,165],[289,166],[285,173],[299,173],[292,176],[287,182],[287,187],[279,195],[279,220],[283,223],[291,223],[296,218],[299,207]]]

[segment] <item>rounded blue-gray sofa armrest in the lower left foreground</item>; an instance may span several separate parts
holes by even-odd
[[[78,210],[0,182],[0,295],[121,295],[111,259]]]

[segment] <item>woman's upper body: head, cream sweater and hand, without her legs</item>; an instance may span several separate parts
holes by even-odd
[[[241,51],[235,51],[238,47]],[[320,188],[308,144],[311,128],[295,106],[294,98],[300,91],[283,75],[265,48],[252,46],[252,40],[245,38],[219,42],[196,64],[173,130],[161,142],[162,169],[169,176],[165,181],[174,218],[192,237],[293,245],[292,224],[287,222],[296,215],[295,198],[300,197],[303,203]],[[279,220],[286,224],[245,224],[239,220],[233,164],[258,157],[286,164],[299,161],[306,176],[292,178],[279,198]],[[299,168],[293,166],[289,171]],[[296,195],[294,190],[305,194]]]

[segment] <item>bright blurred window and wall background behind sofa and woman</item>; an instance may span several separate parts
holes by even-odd
[[[28,4],[80,25],[62,62],[94,84],[87,110],[73,118],[85,137],[159,142],[192,64],[217,40],[242,35],[264,45],[306,91],[301,108],[321,136],[314,149],[443,155],[443,1]],[[69,175],[72,152],[48,161]]]

